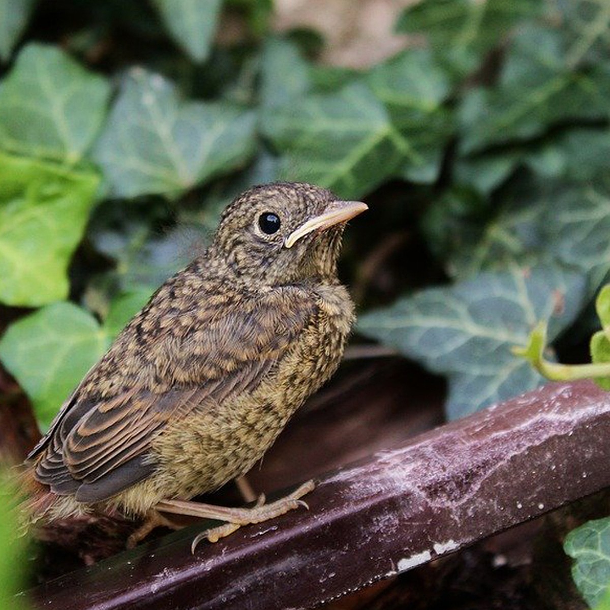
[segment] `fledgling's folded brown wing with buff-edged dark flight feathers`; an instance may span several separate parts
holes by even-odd
[[[256,387],[314,317],[317,306],[307,296],[294,289],[239,301],[204,328],[193,328],[181,345],[165,346],[184,358],[170,389],[136,386],[104,398],[77,389],[61,421],[29,456],[41,454],[37,479],[56,493],[97,502],[148,478],[155,468],[146,459],[154,432],[206,400],[221,402]]]

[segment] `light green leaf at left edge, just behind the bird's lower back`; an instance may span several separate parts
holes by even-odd
[[[0,359],[26,390],[41,428],[109,346],[95,318],[54,303],[14,322],[0,340]]]

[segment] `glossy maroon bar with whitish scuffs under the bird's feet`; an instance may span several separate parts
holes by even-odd
[[[310,510],[201,526],[30,592],[39,608],[310,608],[610,485],[610,393],[550,384],[321,478]]]

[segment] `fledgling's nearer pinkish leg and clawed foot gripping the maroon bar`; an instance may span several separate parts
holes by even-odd
[[[295,489],[289,495],[271,502],[270,504],[265,504],[265,496],[261,494],[252,508],[229,508],[226,506],[214,506],[213,504],[188,502],[184,500],[163,500],[162,502],[157,503],[155,508],[157,511],[227,522],[226,525],[206,529],[206,531],[198,534],[191,546],[191,550],[194,552],[196,546],[204,538],[207,538],[210,542],[217,542],[220,538],[232,534],[242,525],[262,523],[268,519],[279,517],[279,515],[292,511],[299,506],[309,508],[300,498],[306,493],[309,493],[314,487],[314,481],[307,481],[307,483],[303,483],[303,485],[298,487],[298,489]]]

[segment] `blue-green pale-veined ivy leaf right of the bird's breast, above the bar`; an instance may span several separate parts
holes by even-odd
[[[554,339],[578,314],[583,293],[580,274],[513,267],[400,299],[361,316],[358,329],[448,375],[447,411],[456,418],[539,385],[511,347],[525,345],[541,319],[550,318]]]

